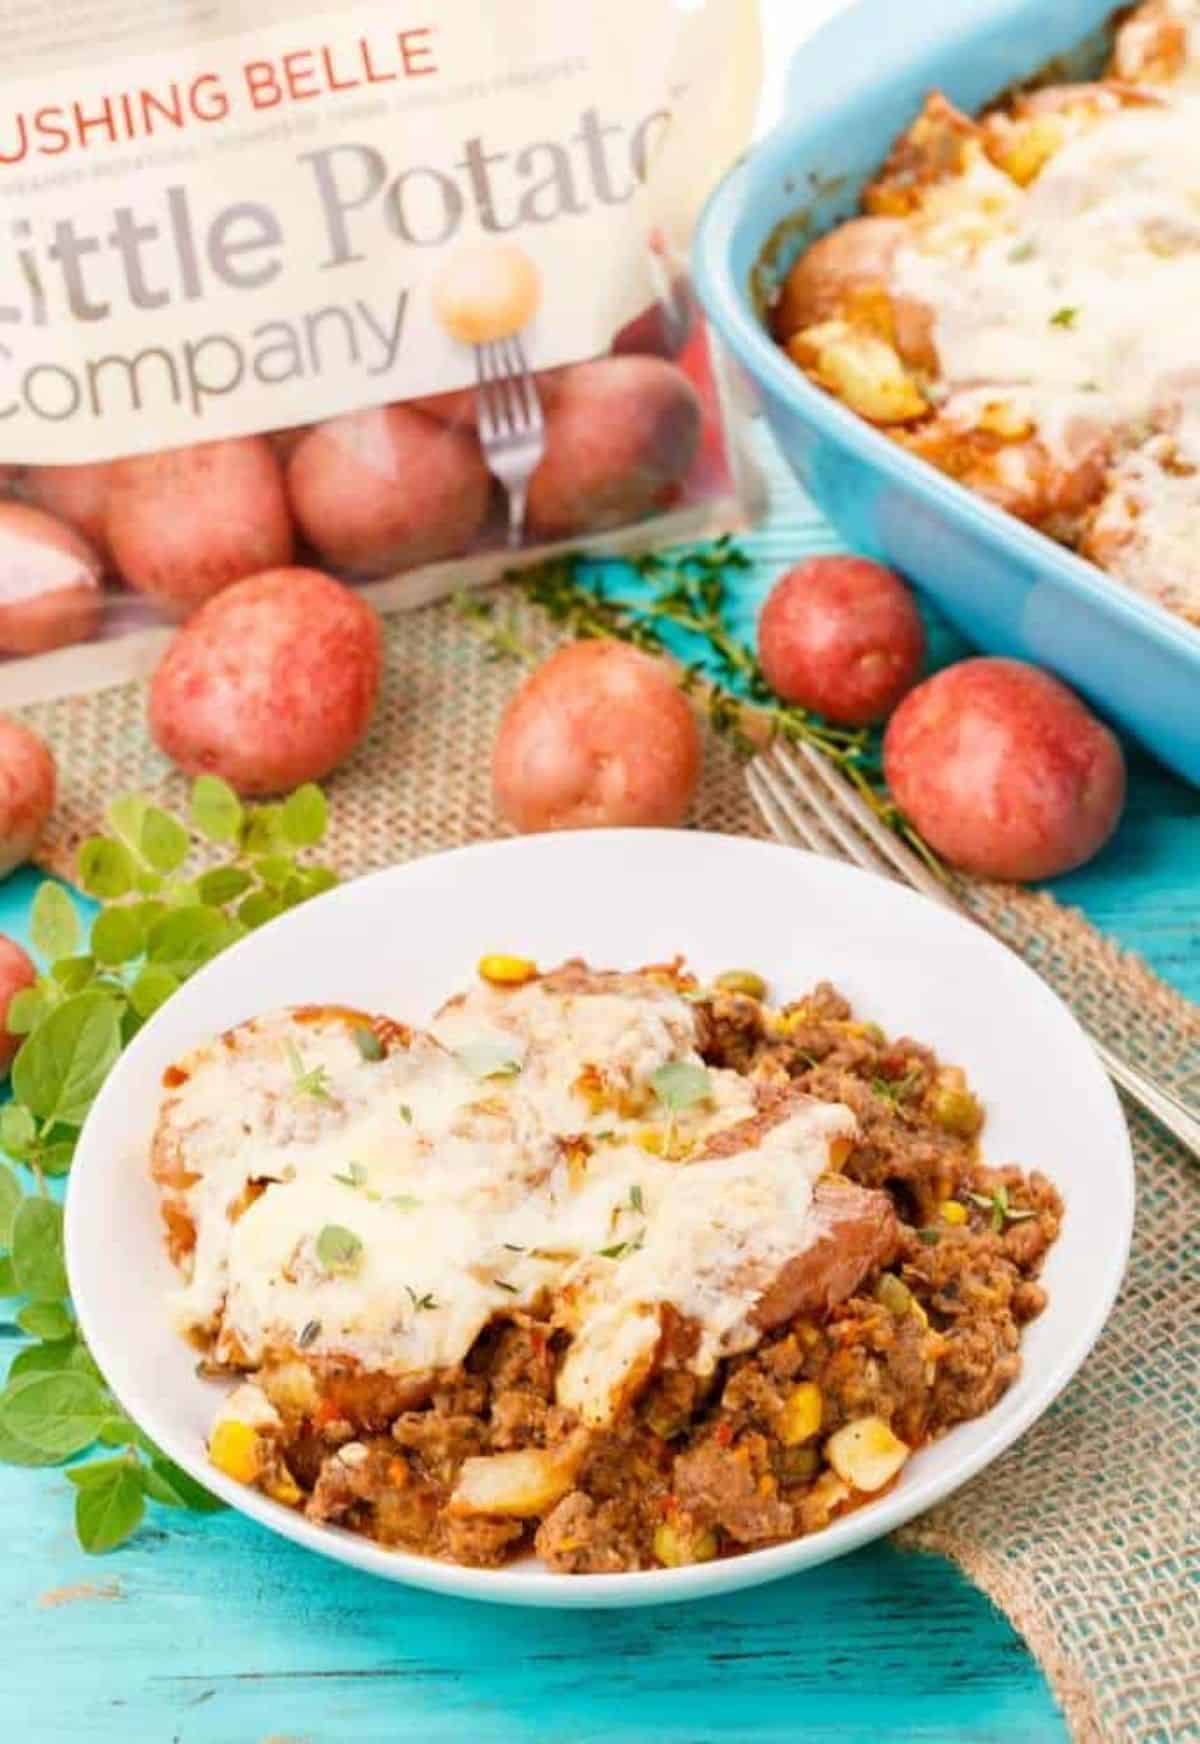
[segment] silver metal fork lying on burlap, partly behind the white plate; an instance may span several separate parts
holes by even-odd
[[[883,872],[900,879],[944,903],[956,914],[987,926],[952,888],[937,877],[888,825],[876,816],[860,794],[837,773],[828,757],[811,745],[783,746],[780,743],[760,752],[747,769],[747,781],[762,818],[781,842],[794,848],[811,848],[818,855],[853,860],[867,872]],[[994,931],[992,928],[987,928]],[[1003,940],[1001,940],[1003,942]],[[1106,1041],[1083,1025],[1109,1078],[1134,1102],[1148,1109],[1167,1132],[1174,1134],[1193,1156],[1200,1156],[1200,1116],[1191,1113],[1179,1097],[1155,1083]]]

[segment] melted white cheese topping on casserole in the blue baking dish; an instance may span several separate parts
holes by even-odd
[[[1073,136],[1027,188],[1010,183],[1006,199],[984,201],[984,234],[947,223],[956,201],[980,209],[968,178],[931,190],[897,255],[893,290],[933,312],[951,426],[973,429],[1001,405],[1067,471],[1087,433],[1109,434],[1118,464],[1155,433],[1170,434],[1174,471],[1151,455],[1113,481],[1135,483],[1142,535],[1099,542],[1092,555],[1172,610],[1200,617],[1200,521],[1181,513],[1197,487],[1177,483],[1200,466],[1195,9],[1190,30],[1188,77],[1148,87],[1146,106],[1073,119]]]

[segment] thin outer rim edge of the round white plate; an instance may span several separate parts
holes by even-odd
[[[762,1585],[790,1573],[801,1573],[806,1568],[816,1568],[837,1556],[844,1556],[874,1538],[881,1538],[886,1533],[895,1531],[914,1516],[930,1509],[935,1502],[954,1495],[963,1488],[963,1484],[970,1482],[972,1477],[978,1475],[980,1470],[991,1465],[992,1460],[1012,1448],[1033,1427],[1033,1423],[1036,1423],[1038,1418],[1050,1409],[1087,1360],[1104,1331],[1104,1325],[1108,1324],[1125,1278],[1135,1209],[1132,1142],[1116,1090],[1101,1066],[1080,1020],[1074,1017],[1066,1001],[1053,991],[1053,987],[1050,987],[1048,982],[1045,982],[1029,966],[1029,963],[1019,956],[1019,952],[1008,947],[994,933],[989,933],[985,928],[977,930],[972,921],[963,919],[952,910],[942,909],[928,896],[923,896],[919,891],[902,886],[893,879],[832,860],[832,856],[815,855],[808,849],[790,848],[760,837],[734,835],[717,830],[588,830],[499,837],[481,842],[467,842],[459,848],[448,848],[431,855],[419,855],[413,860],[380,867],[373,872],[363,874],[361,877],[347,879],[335,889],[326,891],[302,907],[267,923],[265,928],[258,928],[255,933],[248,935],[246,940],[239,940],[227,952],[222,952],[220,957],[208,963],[188,980],[187,987],[199,987],[201,984],[228,975],[230,964],[235,961],[237,952],[244,944],[265,931],[277,933],[281,928],[310,923],[314,909],[328,909],[345,903],[347,891],[361,889],[365,884],[391,882],[398,877],[403,879],[413,869],[429,867],[431,863],[457,863],[462,860],[488,858],[497,853],[553,853],[555,848],[548,844],[577,841],[581,835],[593,841],[616,837],[621,839],[633,853],[640,851],[640,848],[654,848],[656,842],[672,842],[670,851],[678,851],[680,842],[715,841],[720,844],[734,844],[736,851],[745,849],[750,855],[787,855],[792,858],[799,855],[804,862],[822,865],[823,869],[835,867],[837,872],[851,879],[851,882],[867,881],[874,886],[886,886],[891,898],[900,898],[902,905],[912,903],[923,910],[935,909],[940,919],[951,928],[972,928],[972,935],[977,937],[985,949],[998,952],[1008,959],[1010,964],[1015,964],[1017,973],[1027,980],[1031,992],[1034,992],[1036,998],[1052,1001],[1059,1013],[1074,1029],[1076,1038],[1083,1046],[1081,1059],[1087,1059],[1088,1069],[1094,1076],[1095,1092],[1101,1095],[1106,1106],[1106,1114],[1113,1125],[1113,1135],[1120,1148],[1122,1170],[1120,1202],[1109,1205],[1109,1210],[1115,1214],[1111,1224],[1113,1245],[1106,1261],[1102,1289],[1095,1294],[1087,1311],[1080,1313],[1071,1336],[1053,1352],[1052,1360],[1041,1367],[1038,1373],[1038,1385],[1029,1392],[1029,1397],[1017,1406],[1010,1406],[1003,1416],[991,1423],[991,1427],[989,1418],[996,1416],[1003,1400],[998,1400],[998,1404],[982,1418],[972,1420],[972,1427],[975,1427],[975,1434],[978,1437],[977,1444],[954,1465],[951,1474],[916,1475],[910,1482],[886,1493],[862,1509],[856,1509],[853,1514],[844,1516],[820,1533],[794,1538],[787,1543],[773,1545],[762,1550],[748,1550],[740,1556],[722,1557],[713,1563],[692,1564],[689,1568],[633,1570],[619,1575],[570,1577],[556,1575],[548,1570],[522,1570],[518,1573],[513,1568],[471,1568],[457,1563],[440,1563],[434,1557],[426,1557],[413,1550],[385,1549],[370,1538],[349,1533],[338,1526],[316,1524],[283,1503],[260,1495],[256,1489],[248,1489],[234,1479],[225,1477],[213,1465],[209,1465],[208,1460],[197,1456],[190,1439],[183,1432],[176,1434],[169,1413],[160,1416],[153,1399],[138,1388],[136,1380],[129,1383],[129,1366],[124,1362],[120,1353],[117,1355],[115,1367],[122,1374],[122,1380],[129,1385],[122,1388],[113,1385],[113,1393],[119,1397],[122,1406],[129,1409],[133,1420],[143,1427],[147,1434],[150,1434],[153,1441],[178,1465],[183,1467],[183,1470],[190,1472],[192,1477],[202,1482],[239,1514],[248,1516],[255,1523],[291,1540],[293,1543],[302,1545],[307,1550],[316,1552],[317,1556],[331,1557],[351,1568],[358,1568],[365,1573],[392,1580],[401,1585],[450,1594],[455,1598],[480,1599],[494,1604],[567,1610],[670,1604],[687,1599],[701,1599],[717,1592],[734,1592]],[[633,846],[635,842],[637,846]],[[171,1005],[174,1005],[174,1001],[171,1001]],[[120,1078],[131,1069],[127,1062],[131,1059],[136,1060],[136,1052],[143,1048],[145,1038],[152,1032],[155,1022],[157,1013],[143,1025],[138,1036],[134,1036],[129,1048],[117,1062],[117,1067],[105,1081],[94,1107],[103,1107],[106,1100],[119,1095]],[[133,1069],[136,1069],[136,1066]],[[92,1233],[91,1226],[85,1228],[87,1207],[84,1195],[87,1189],[80,1186],[80,1182],[87,1181],[89,1172],[94,1174],[101,1167],[101,1163],[89,1163],[87,1160],[94,1155],[87,1149],[85,1142],[91,1123],[92,1114],[89,1113],[84,1130],[80,1132],[78,1155],[66,1186],[65,1250],[68,1275],[72,1277],[87,1275],[85,1266],[75,1266],[75,1256],[91,1242]],[[84,1289],[80,1296],[73,1294],[72,1299],[75,1303],[80,1331],[84,1332],[101,1369],[108,1374],[105,1355],[110,1353],[106,1350],[101,1352],[94,1341],[94,1305],[87,1296],[87,1289]],[[99,1345],[105,1345],[103,1334]],[[185,1348],[183,1343],[180,1348]],[[136,1404],[131,1400],[136,1400]],[[966,1428],[966,1425],[961,1427]]]

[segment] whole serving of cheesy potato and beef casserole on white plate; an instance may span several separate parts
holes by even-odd
[[[828,985],[487,957],[427,1031],[253,1018],[164,1074],[213,1463],[495,1566],[678,1568],[870,1503],[985,1413],[1062,1216],[963,1073]]]

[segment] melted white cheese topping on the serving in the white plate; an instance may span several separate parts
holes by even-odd
[[[298,1348],[408,1374],[460,1362],[497,1313],[549,1296],[574,1334],[562,1399],[597,1423],[652,1359],[666,1306],[712,1371],[757,1339],[755,1303],[820,1233],[813,1184],[855,1120],[799,1104],[703,1158],[755,1093],[710,1069],[708,1093],[670,1114],[651,1078],[699,1066],[694,1043],[670,991],[532,984],[452,1001],[434,1034],[378,1060],[345,1022],[288,1013],[199,1050],[164,1111],[195,1177],[178,1324],[251,1367]]]

